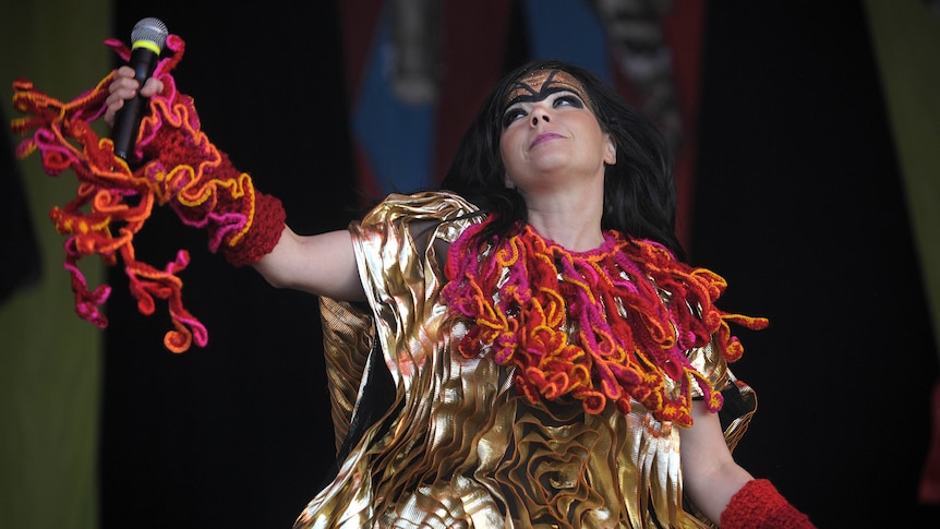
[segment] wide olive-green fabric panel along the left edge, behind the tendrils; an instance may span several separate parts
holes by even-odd
[[[111,24],[110,0],[7,2],[0,14],[5,118],[21,117],[12,106],[14,79],[64,100],[94,86],[111,68],[103,45]],[[22,178],[43,276],[0,304],[0,527],[94,529],[103,332],[74,313],[64,238],[48,217],[74,195],[75,179],[47,176],[36,155],[22,163]],[[104,277],[99,263],[83,272],[89,285]]]

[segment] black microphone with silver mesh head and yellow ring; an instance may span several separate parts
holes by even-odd
[[[154,69],[157,68],[157,60],[164,50],[167,35],[169,35],[167,25],[154,17],[141,20],[131,32],[131,43],[133,44],[131,45],[131,59],[128,61],[128,65],[134,69],[134,79],[141,83],[142,87],[144,82],[154,74]],[[115,142],[115,154],[123,160],[128,159],[134,148],[145,103],[137,92],[133,98],[124,101],[124,106],[118,110],[118,115],[115,117],[111,140]]]

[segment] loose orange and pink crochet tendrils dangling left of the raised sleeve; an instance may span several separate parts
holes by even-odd
[[[130,58],[130,49],[120,40],[108,39],[105,44],[125,61]],[[154,72],[154,76],[164,81],[165,96],[173,95],[169,72],[182,59],[184,48],[182,38],[168,36],[167,49],[172,53],[162,58]],[[176,260],[164,269],[135,257],[134,236],[150,217],[155,201],[160,204],[166,196],[160,194],[157,182],[144,178],[140,170],[135,173],[124,160],[115,156],[113,142],[108,137],[99,139],[89,125],[105,111],[112,76],[109,74],[93,89],[69,103],[44,94],[28,81],[16,81],[13,105],[32,116],[13,120],[11,128],[21,135],[33,131],[19,145],[16,155],[26,158],[39,151],[49,176],[71,169],[79,179],[75,199],[50,213],[58,231],[68,236],[64,267],[71,275],[76,313],[98,327],[107,326],[107,317],[98,306],[107,300],[110,287],[100,285],[89,291],[77,263],[83,257],[98,255],[110,266],[120,259],[130,278],[131,293],[143,314],[153,314],[155,298],[167,300],[174,328],[167,332],[164,345],[173,352],[188,350],[194,340],[205,346],[206,328],[183,306],[182,280],[177,275],[189,265],[189,252],[178,251]],[[167,97],[154,96],[152,107],[165,103]]]

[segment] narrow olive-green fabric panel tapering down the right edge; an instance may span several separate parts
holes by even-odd
[[[865,3],[940,344],[940,12],[920,0]]]

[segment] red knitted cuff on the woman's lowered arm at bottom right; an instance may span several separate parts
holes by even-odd
[[[768,480],[740,488],[721,514],[722,529],[816,529]]]

